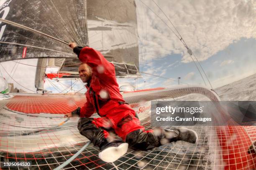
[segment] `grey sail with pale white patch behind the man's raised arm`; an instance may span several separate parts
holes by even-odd
[[[87,0],[87,27],[90,47],[113,62],[117,77],[141,76],[134,0]],[[79,63],[78,59],[66,59],[65,65],[71,66],[62,67],[59,72],[78,71]]]

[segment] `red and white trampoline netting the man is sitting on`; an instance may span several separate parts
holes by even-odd
[[[192,92],[191,89],[186,89]],[[166,94],[169,92],[169,94]],[[184,94],[182,90],[155,90],[124,94],[135,110],[141,105],[136,97],[164,98]],[[202,90],[203,92],[209,92]],[[164,94],[159,95],[157,94]],[[134,96],[131,100],[131,96]],[[151,96],[151,97],[150,97]],[[153,96],[153,97],[152,97]],[[214,95],[209,93],[208,96]],[[130,98],[129,98],[130,97]],[[64,163],[87,143],[87,138],[77,129],[78,117],[59,126],[66,118],[63,114],[82,106],[84,95],[21,95],[2,100],[0,110],[0,161],[30,162],[26,169],[53,169]],[[49,114],[54,113],[54,114]],[[96,116],[97,114],[94,114]],[[151,125],[149,112],[139,114],[146,129]],[[174,127],[168,127],[174,128]],[[248,153],[252,141],[256,140],[254,126],[190,126],[199,140],[196,144],[182,141],[167,143],[148,151],[129,149],[122,158],[115,161],[120,170],[190,170],[190,169],[256,169],[255,155]],[[111,170],[115,167],[98,157],[99,148],[89,145],[64,169]],[[1,165],[1,166],[2,166]],[[23,167],[24,168],[24,167]],[[11,169],[11,168],[10,168]]]

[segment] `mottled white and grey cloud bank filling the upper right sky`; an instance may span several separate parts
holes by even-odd
[[[206,60],[242,37],[256,38],[253,1],[156,0],[194,52]],[[172,28],[161,10],[151,0],[143,1]],[[141,1],[136,0],[138,34],[146,60],[181,54],[182,62],[192,62],[187,49],[174,33]]]

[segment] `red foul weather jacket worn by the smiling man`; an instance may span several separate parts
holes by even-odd
[[[92,79],[86,86],[87,102],[80,110],[80,117],[90,117],[96,111],[102,118],[108,117],[113,124],[112,128],[116,128],[123,117],[135,116],[135,111],[125,104],[119,92],[114,65],[90,47],[75,47],[74,52],[81,62],[92,68]]]

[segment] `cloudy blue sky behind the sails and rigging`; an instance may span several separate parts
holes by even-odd
[[[0,0],[0,5],[1,2],[3,3],[3,0]],[[177,77],[181,77],[181,83],[200,85],[206,83],[206,86],[210,87],[204,75],[205,72],[212,87],[216,88],[256,73],[255,1],[136,0],[136,12],[139,69],[166,79],[142,74],[142,78],[137,80],[118,79],[118,83],[130,82],[138,89],[169,87],[177,85]],[[178,32],[170,21],[192,50],[193,59],[198,60],[204,69],[203,72],[197,63],[205,83],[187,49],[175,36]],[[19,62],[35,66],[37,60]],[[18,65],[13,61],[2,62],[2,65],[20,85],[32,91],[36,90],[34,87],[36,67]],[[0,66],[3,77],[8,82],[14,82],[3,67]],[[62,81],[62,84],[54,80],[49,81],[62,90],[71,83],[70,81]],[[58,92],[49,81],[45,83],[46,89]],[[14,82],[15,87],[23,88],[16,82]],[[73,89],[82,88],[83,83],[78,80]]]

